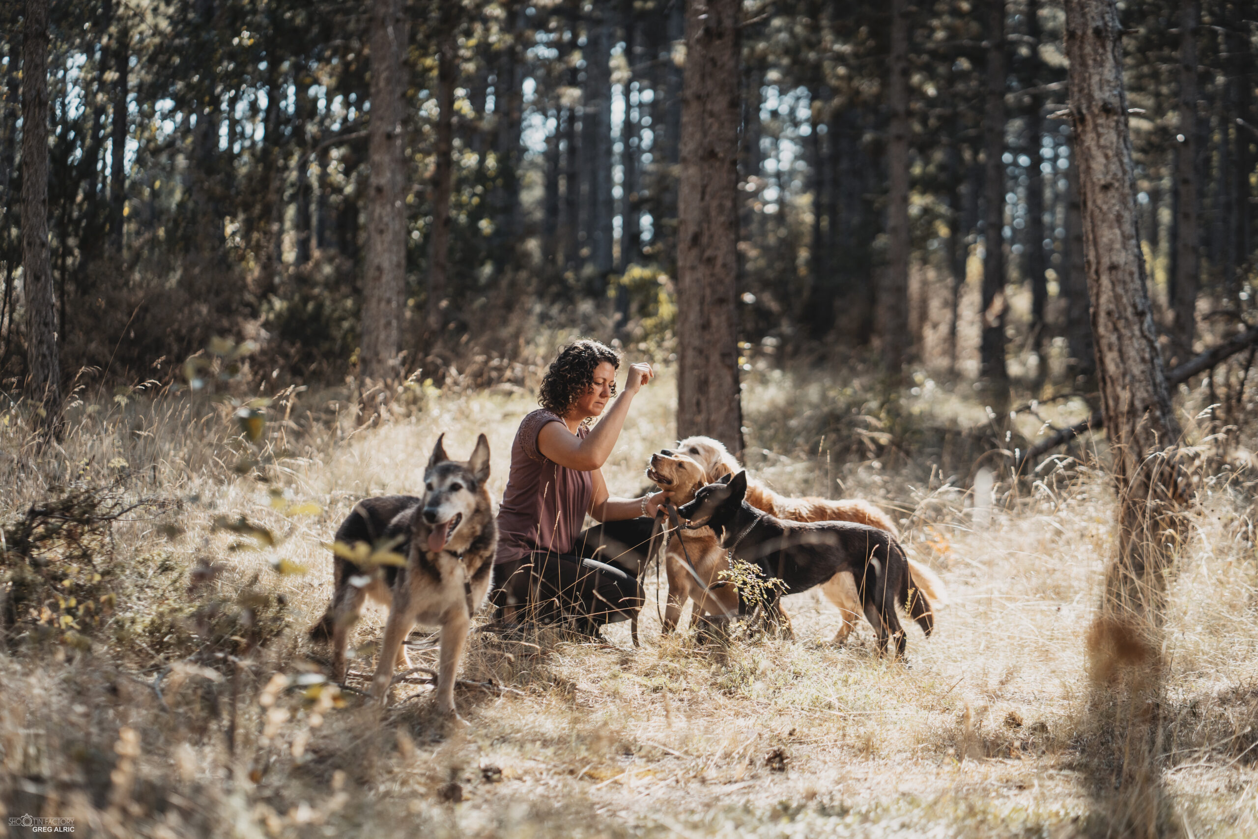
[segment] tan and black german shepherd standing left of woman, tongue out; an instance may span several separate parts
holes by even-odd
[[[498,527],[489,502],[489,442],[477,438],[469,460],[452,460],[438,438],[424,470],[424,494],[382,496],[355,504],[336,531],[341,546],[357,548],[362,558],[333,553],[332,603],[311,636],[332,642],[332,678],[345,681],[346,645],[364,601],[389,606],[372,694],[386,703],[394,668],[410,664],[403,642],[416,624],[440,626],[442,647],[437,704],[459,720],[454,709],[454,674],[472,615],[484,600],[493,574]],[[370,564],[372,552],[389,551],[404,564]],[[355,558],[359,558],[357,556]]]

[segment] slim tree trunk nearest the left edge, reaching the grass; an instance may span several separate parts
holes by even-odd
[[[60,428],[62,365],[48,257],[48,0],[26,0],[21,58],[21,264],[26,392],[45,433]]]

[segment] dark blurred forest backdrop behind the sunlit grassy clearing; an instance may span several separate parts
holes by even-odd
[[[228,335],[258,343],[255,374],[286,381],[380,364],[440,379],[520,357],[538,327],[677,351],[683,3],[394,5],[381,42],[376,4],[49,0],[63,377],[162,379]],[[863,356],[898,375],[903,360],[982,379],[994,405],[1006,381],[1087,384],[1062,5],[738,13],[740,365]],[[23,151],[26,14],[0,0],[6,391],[40,375],[26,360],[42,274],[23,262],[38,221],[19,200],[38,171]],[[1240,0],[1120,14],[1137,230],[1177,364],[1253,306],[1258,25]],[[390,89],[381,43],[398,49],[400,108],[372,107]],[[399,132],[391,208],[377,200],[381,113]],[[376,345],[364,322],[387,321],[372,308],[387,214],[400,308],[396,338]]]

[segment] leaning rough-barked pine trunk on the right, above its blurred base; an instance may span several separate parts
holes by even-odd
[[[1167,460],[1180,440],[1157,352],[1122,82],[1122,28],[1113,0],[1067,0],[1071,116],[1083,205],[1101,411],[1118,496],[1118,552],[1106,580],[1117,620],[1156,620],[1170,562],[1166,530],[1183,502]]]

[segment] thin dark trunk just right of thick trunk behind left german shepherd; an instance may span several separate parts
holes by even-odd
[[[443,13],[444,16],[444,13]],[[442,25],[437,64],[437,145],[433,148],[433,224],[428,231],[428,331],[439,341],[449,298],[450,195],[454,190],[454,86],[458,52],[453,21]]]

